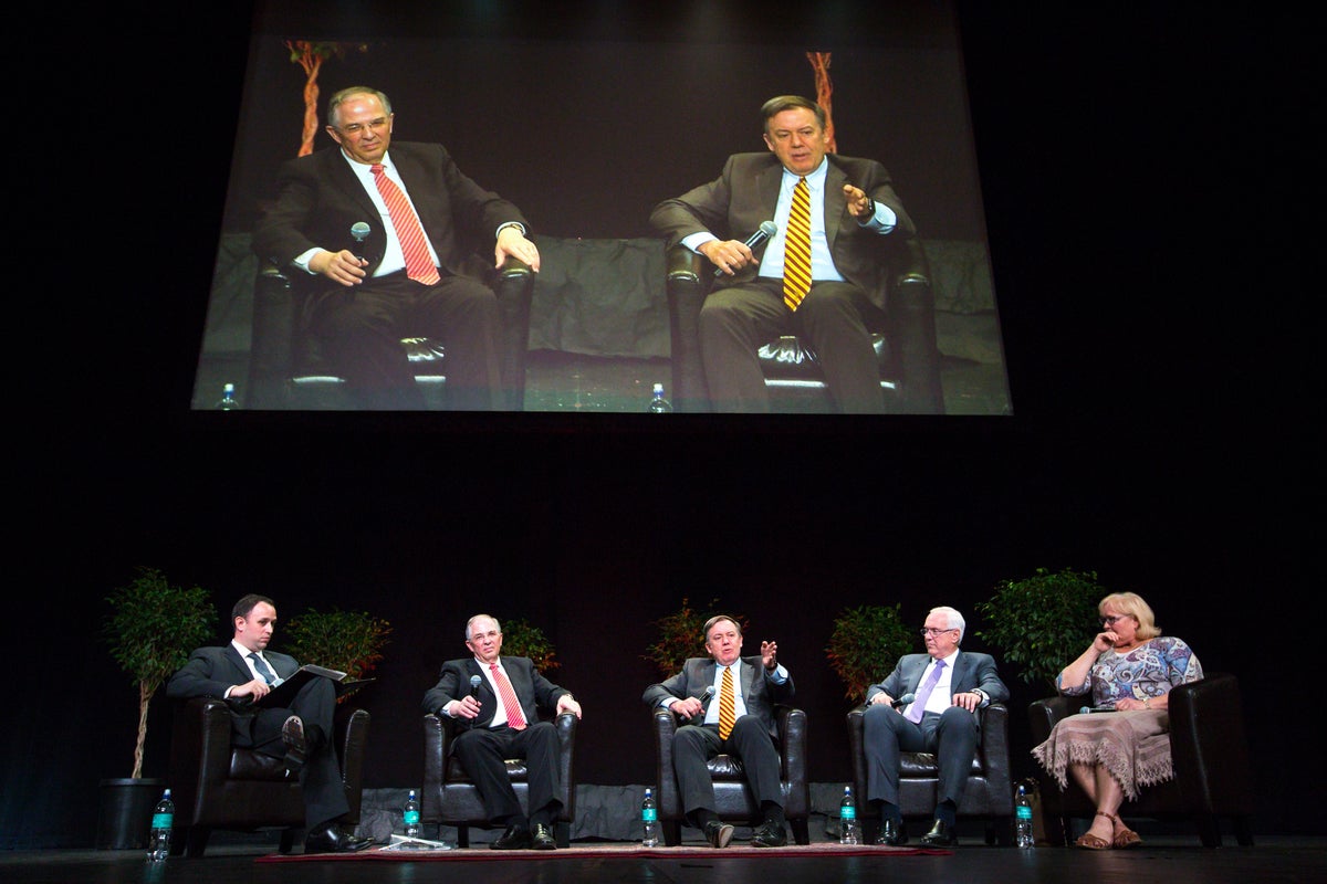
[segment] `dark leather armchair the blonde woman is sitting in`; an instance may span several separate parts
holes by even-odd
[[[1082,706],[1083,697],[1050,697],[1031,704],[1032,745],[1040,745],[1055,722]],[[1201,681],[1172,688],[1168,710],[1174,779],[1144,787],[1137,801],[1120,807],[1120,815],[1190,818],[1204,847],[1221,847],[1221,818],[1226,816],[1234,822],[1235,839],[1253,844],[1249,816],[1254,791],[1238,680],[1209,673]],[[1072,819],[1091,819],[1096,807],[1072,779],[1062,791],[1040,765],[1036,775],[1046,835],[1055,844],[1066,844],[1072,838]]]

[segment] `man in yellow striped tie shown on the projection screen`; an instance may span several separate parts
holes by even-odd
[[[719,178],[650,213],[669,248],[686,245],[721,273],[699,319],[710,399],[719,411],[768,411],[756,351],[779,335],[796,334],[819,354],[839,411],[882,412],[868,326],[882,325],[889,309],[886,250],[917,228],[884,166],[828,152],[823,107],[779,95],[760,114],[768,152],[734,154]],[[811,192],[812,284],[790,309],[783,297],[784,245],[799,179]],[[778,233],[756,256],[744,239],[767,220]]]

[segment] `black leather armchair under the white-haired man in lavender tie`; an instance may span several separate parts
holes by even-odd
[[[848,712],[848,742],[852,750],[853,790],[857,793],[859,819],[878,819],[867,802],[865,706]],[[982,741],[977,746],[963,801],[958,816],[979,816],[983,820],[987,844],[1013,843],[1014,783],[1009,767],[1009,708],[993,702],[977,712],[982,720]],[[936,790],[940,786],[940,767],[929,751],[900,754],[898,803],[904,816],[925,816],[936,812]]]

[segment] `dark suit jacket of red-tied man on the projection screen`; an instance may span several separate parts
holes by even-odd
[[[405,182],[445,272],[484,280],[492,264],[484,265],[476,249],[491,250],[498,228],[508,221],[528,231],[520,209],[466,176],[442,144],[393,142],[387,158]],[[284,268],[314,247],[352,249],[369,260],[365,272],[373,276],[386,250],[385,221],[340,147],[287,160],[277,190],[276,201],[253,229],[253,250],[260,258]],[[372,228],[362,248],[350,236],[357,221]],[[342,288],[308,273],[292,274],[292,281],[313,289]]]

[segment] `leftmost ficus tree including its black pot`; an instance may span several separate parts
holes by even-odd
[[[110,614],[102,636],[138,689],[138,737],[130,777],[101,781],[97,847],[143,848],[151,807],[165,787],[161,779],[143,778],[149,705],[190,652],[212,637],[216,611],[206,590],[174,586],[153,567],[138,567],[134,578],[113,590],[106,602]]]

